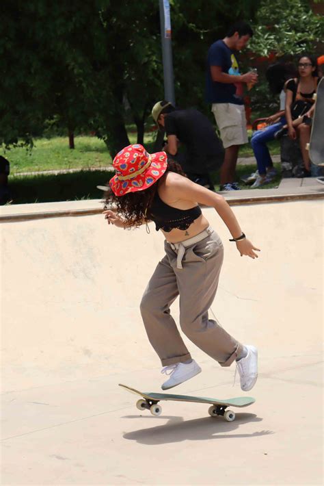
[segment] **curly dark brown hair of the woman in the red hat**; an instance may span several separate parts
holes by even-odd
[[[176,172],[187,177],[180,164],[170,157],[167,157],[167,169],[162,177],[165,177],[167,172]],[[116,196],[113,194],[109,182],[107,182],[107,187],[108,190],[104,201],[105,209],[108,206],[115,207],[117,214],[126,220],[126,228],[136,228],[150,220],[150,206],[157,192],[157,183],[152,184],[150,188],[143,191],[128,192],[124,196]]]

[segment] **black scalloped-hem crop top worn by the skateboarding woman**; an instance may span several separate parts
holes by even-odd
[[[174,228],[188,229],[191,223],[202,214],[202,210],[199,206],[190,209],[177,209],[169,206],[163,203],[159,193],[156,192],[148,213],[150,219],[154,221],[157,231],[161,228],[169,233]]]

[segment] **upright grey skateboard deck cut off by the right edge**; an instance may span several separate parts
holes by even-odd
[[[317,86],[315,110],[310,132],[310,160],[316,166],[324,166],[324,79]]]

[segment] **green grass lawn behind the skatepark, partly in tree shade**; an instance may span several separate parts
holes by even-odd
[[[136,142],[136,134],[129,133],[131,143]],[[150,151],[154,134],[148,133],[145,144]],[[269,144],[271,153],[279,153],[278,142]],[[35,140],[31,151],[16,148],[10,151],[0,151],[10,161],[10,189],[13,203],[35,203],[50,201],[74,201],[77,199],[100,199],[102,192],[96,189],[111,177],[111,173],[103,170],[111,165],[111,157],[102,140],[92,136],[75,137],[75,150],[68,148],[68,138],[41,138]],[[253,155],[251,146],[246,144],[240,149],[240,157]],[[278,164],[279,165],[279,164]],[[42,170],[80,169],[80,172],[62,175],[25,175],[17,172],[38,172]],[[92,170],[89,169],[98,169]],[[279,168],[279,167],[278,167]],[[237,166],[238,181],[256,170],[255,165]],[[216,190],[219,189],[219,173],[213,175]],[[265,188],[278,186],[280,176]],[[244,186],[242,186],[244,188]]]

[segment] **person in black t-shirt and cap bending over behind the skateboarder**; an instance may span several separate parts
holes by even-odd
[[[152,117],[165,129],[167,144],[163,150],[176,159],[191,181],[215,190],[209,172],[221,166],[224,147],[208,118],[193,108],[177,110],[168,101],[158,101]],[[178,153],[179,143],[185,153]]]

